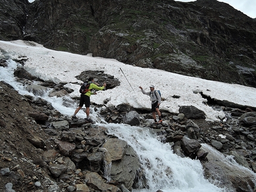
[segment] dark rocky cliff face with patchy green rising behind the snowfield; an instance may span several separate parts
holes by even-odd
[[[256,21],[223,2],[0,2],[2,40],[256,87]]]

